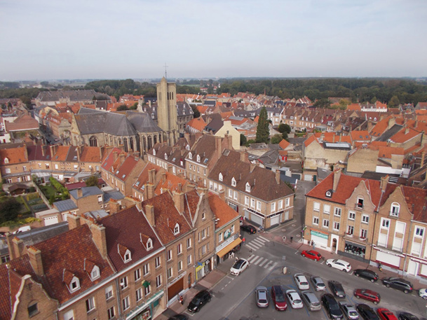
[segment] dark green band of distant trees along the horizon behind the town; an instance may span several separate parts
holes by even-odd
[[[280,99],[309,97],[312,101],[327,97],[348,97],[351,102],[386,102],[393,104],[427,102],[427,82],[407,78],[236,78],[205,81],[183,81],[177,83],[177,93],[198,94],[201,87],[213,93],[250,92],[266,94]],[[58,89],[62,86],[58,86]],[[156,97],[156,83],[126,80],[102,80],[86,83],[85,89],[93,89],[118,99],[121,95],[145,95]],[[62,89],[75,90],[64,87]],[[20,98],[29,105],[41,90],[19,88],[19,83],[0,82],[0,98]],[[393,98],[393,99],[392,99]]]

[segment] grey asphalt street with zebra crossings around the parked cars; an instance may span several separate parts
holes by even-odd
[[[285,312],[278,312],[270,301],[266,309],[259,309],[255,305],[255,288],[259,285],[271,288],[280,284],[283,288],[297,289],[293,274],[302,272],[307,277],[317,275],[328,280],[337,280],[346,290],[346,301],[354,304],[366,303],[374,309],[377,307],[372,302],[358,300],[353,296],[355,288],[369,288],[381,295],[379,307],[386,307],[393,312],[412,312],[421,317],[426,314],[426,302],[416,295],[416,292],[405,295],[401,291],[386,288],[381,281],[372,284],[370,281],[360,279],[349,273],[341,272],[325,265],[325,260],[319,262],[301,257],[301,253],[289,246],[272,242],[262,237],[262,234],[248,235],[246,245],[240,251],[240,256],[248,258],[250,267],[242,274],[235,277],[227,274],[222,281],[212,288],[212,301],[205,305],[200,312],[188,314],[189,319],[206,320],[252,320],[252,319],[283,319],[285,316],[294,319],[328,319],[325,309],[318,312],[309,312],[304,305],[303,309],[292,309],[288,305]],[[252,252],[251,252],[252,251]],[[283,274],[283,266],[287,273]],[[380,275],[381,276],[381,275]],[[329,291],[329,289],[328,289]],[[316,293],[318,298],[323,293]]]

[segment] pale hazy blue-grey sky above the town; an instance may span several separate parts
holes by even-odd
[[[426,0],[0,0],[0,81],[427,76],[426,17]]]

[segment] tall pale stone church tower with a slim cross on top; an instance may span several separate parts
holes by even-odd
[[[157,120],[164,131],[163,141],[173,146],[178,139],[177,85],[163,77],[157,83]]]

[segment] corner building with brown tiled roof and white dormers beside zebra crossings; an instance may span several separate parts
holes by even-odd
[[[263,228],[292,219],[294,192],[280,180],[280,172],[252,165],[246,156],[224,150],[208,176],[210,191],[224,193],[231,208]]]

